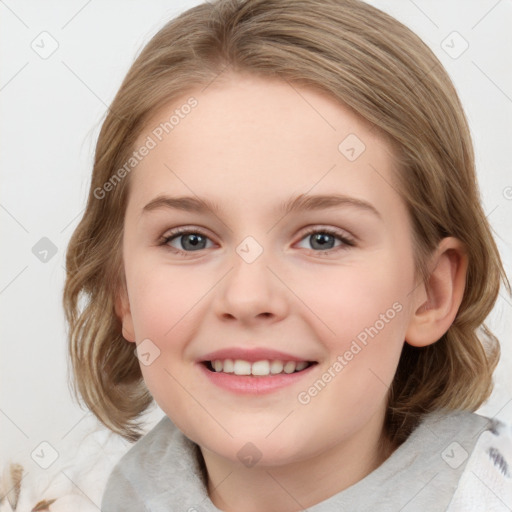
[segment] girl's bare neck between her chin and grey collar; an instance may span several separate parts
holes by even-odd
[[[296,512],[321,503],[362,480],[396,448],[383,434],[383,418],[375,420],[314,457],[282,466],[246,468],[202,448],[210,499],[225,512]]]

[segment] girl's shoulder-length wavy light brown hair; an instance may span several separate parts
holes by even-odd
[[[468,123],[428,46],[359,0],[217,0],[171,20],[143,48],[103,122],[87,206],[67,250],[63,303],[75,396],[112,431],[131,441],[142,435],[140,416],[152,397],[115,309],[126,285],[130,176],[104,197],[97,191],[128,161],[159,108],[228,68],[323,91],[385,137],[425,283],[441,239],[462,241],[468,270],[456,318],[432,345],[404,343],[385,431],[399,444],[425,413],[476,410],[490,396],[500,354],[484,320],[500,281],[509,292],[510,284],[480,204]]]

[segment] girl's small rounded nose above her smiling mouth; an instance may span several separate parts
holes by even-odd
[[[216,294],[214,309],[221,320],[254,325],[277,322],[287,315],[287,289],[268,263],[265,251],[251,263],[234,254],[231,270]]]

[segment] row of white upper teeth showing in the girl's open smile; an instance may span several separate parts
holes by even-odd
[[[214,359],[203,361],[203,366],[212,373],[245,377],[272,377],[301,373],[316,361],[286,361],[280,359],[262,359],[260,361],[246,361],[244,359]]]

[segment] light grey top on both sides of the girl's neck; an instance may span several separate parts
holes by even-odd
[[[427,414],[377,469],[308,511],[445,511],[479,436],[499,424],[467,411]],[[200,461],[198,446],[164,417],[116,465],[101,510],[218,512]]]

